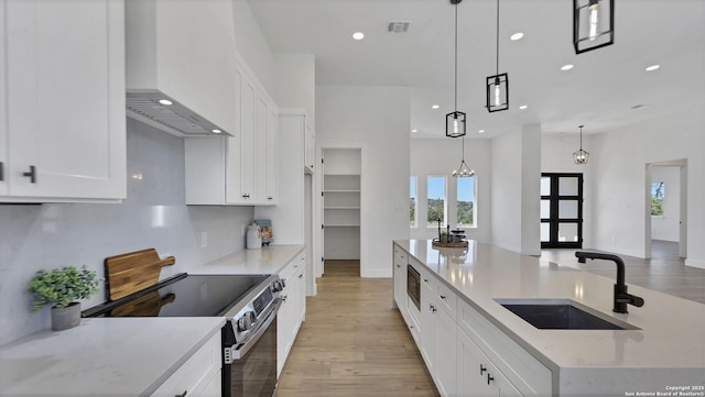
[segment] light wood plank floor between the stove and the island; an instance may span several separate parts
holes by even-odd
[[[359,277],[357,261],[326,261],[318,295],[279,381],[279,397],[436,397],[397,309],[392,279]]]

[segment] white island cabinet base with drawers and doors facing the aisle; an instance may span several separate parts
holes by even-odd
[[[398,283],[394,249],[394,299],[406,285]],[[551,396],[552,373],[465,297],[409,255],[421,275],[421,310],[410,302],[404,320],[442,396]],[[405,274],[405,273],[404,273]],[[404,300],[402,300],[404,301]]]

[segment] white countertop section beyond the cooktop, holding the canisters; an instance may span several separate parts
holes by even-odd
[[[188,274],[278,274],[305,245],[284,244],[242,250],[196,266]]]

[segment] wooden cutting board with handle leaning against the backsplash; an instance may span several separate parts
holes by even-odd
[[[108,300],[120,299],[155,285],[162,267],[174,263],[175,257],[162,260],[154,249],[106,257],[104,264]]]

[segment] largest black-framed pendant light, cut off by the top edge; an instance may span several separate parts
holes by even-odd
[[[615,0],[573,0],[575,54],[615,43]]]

